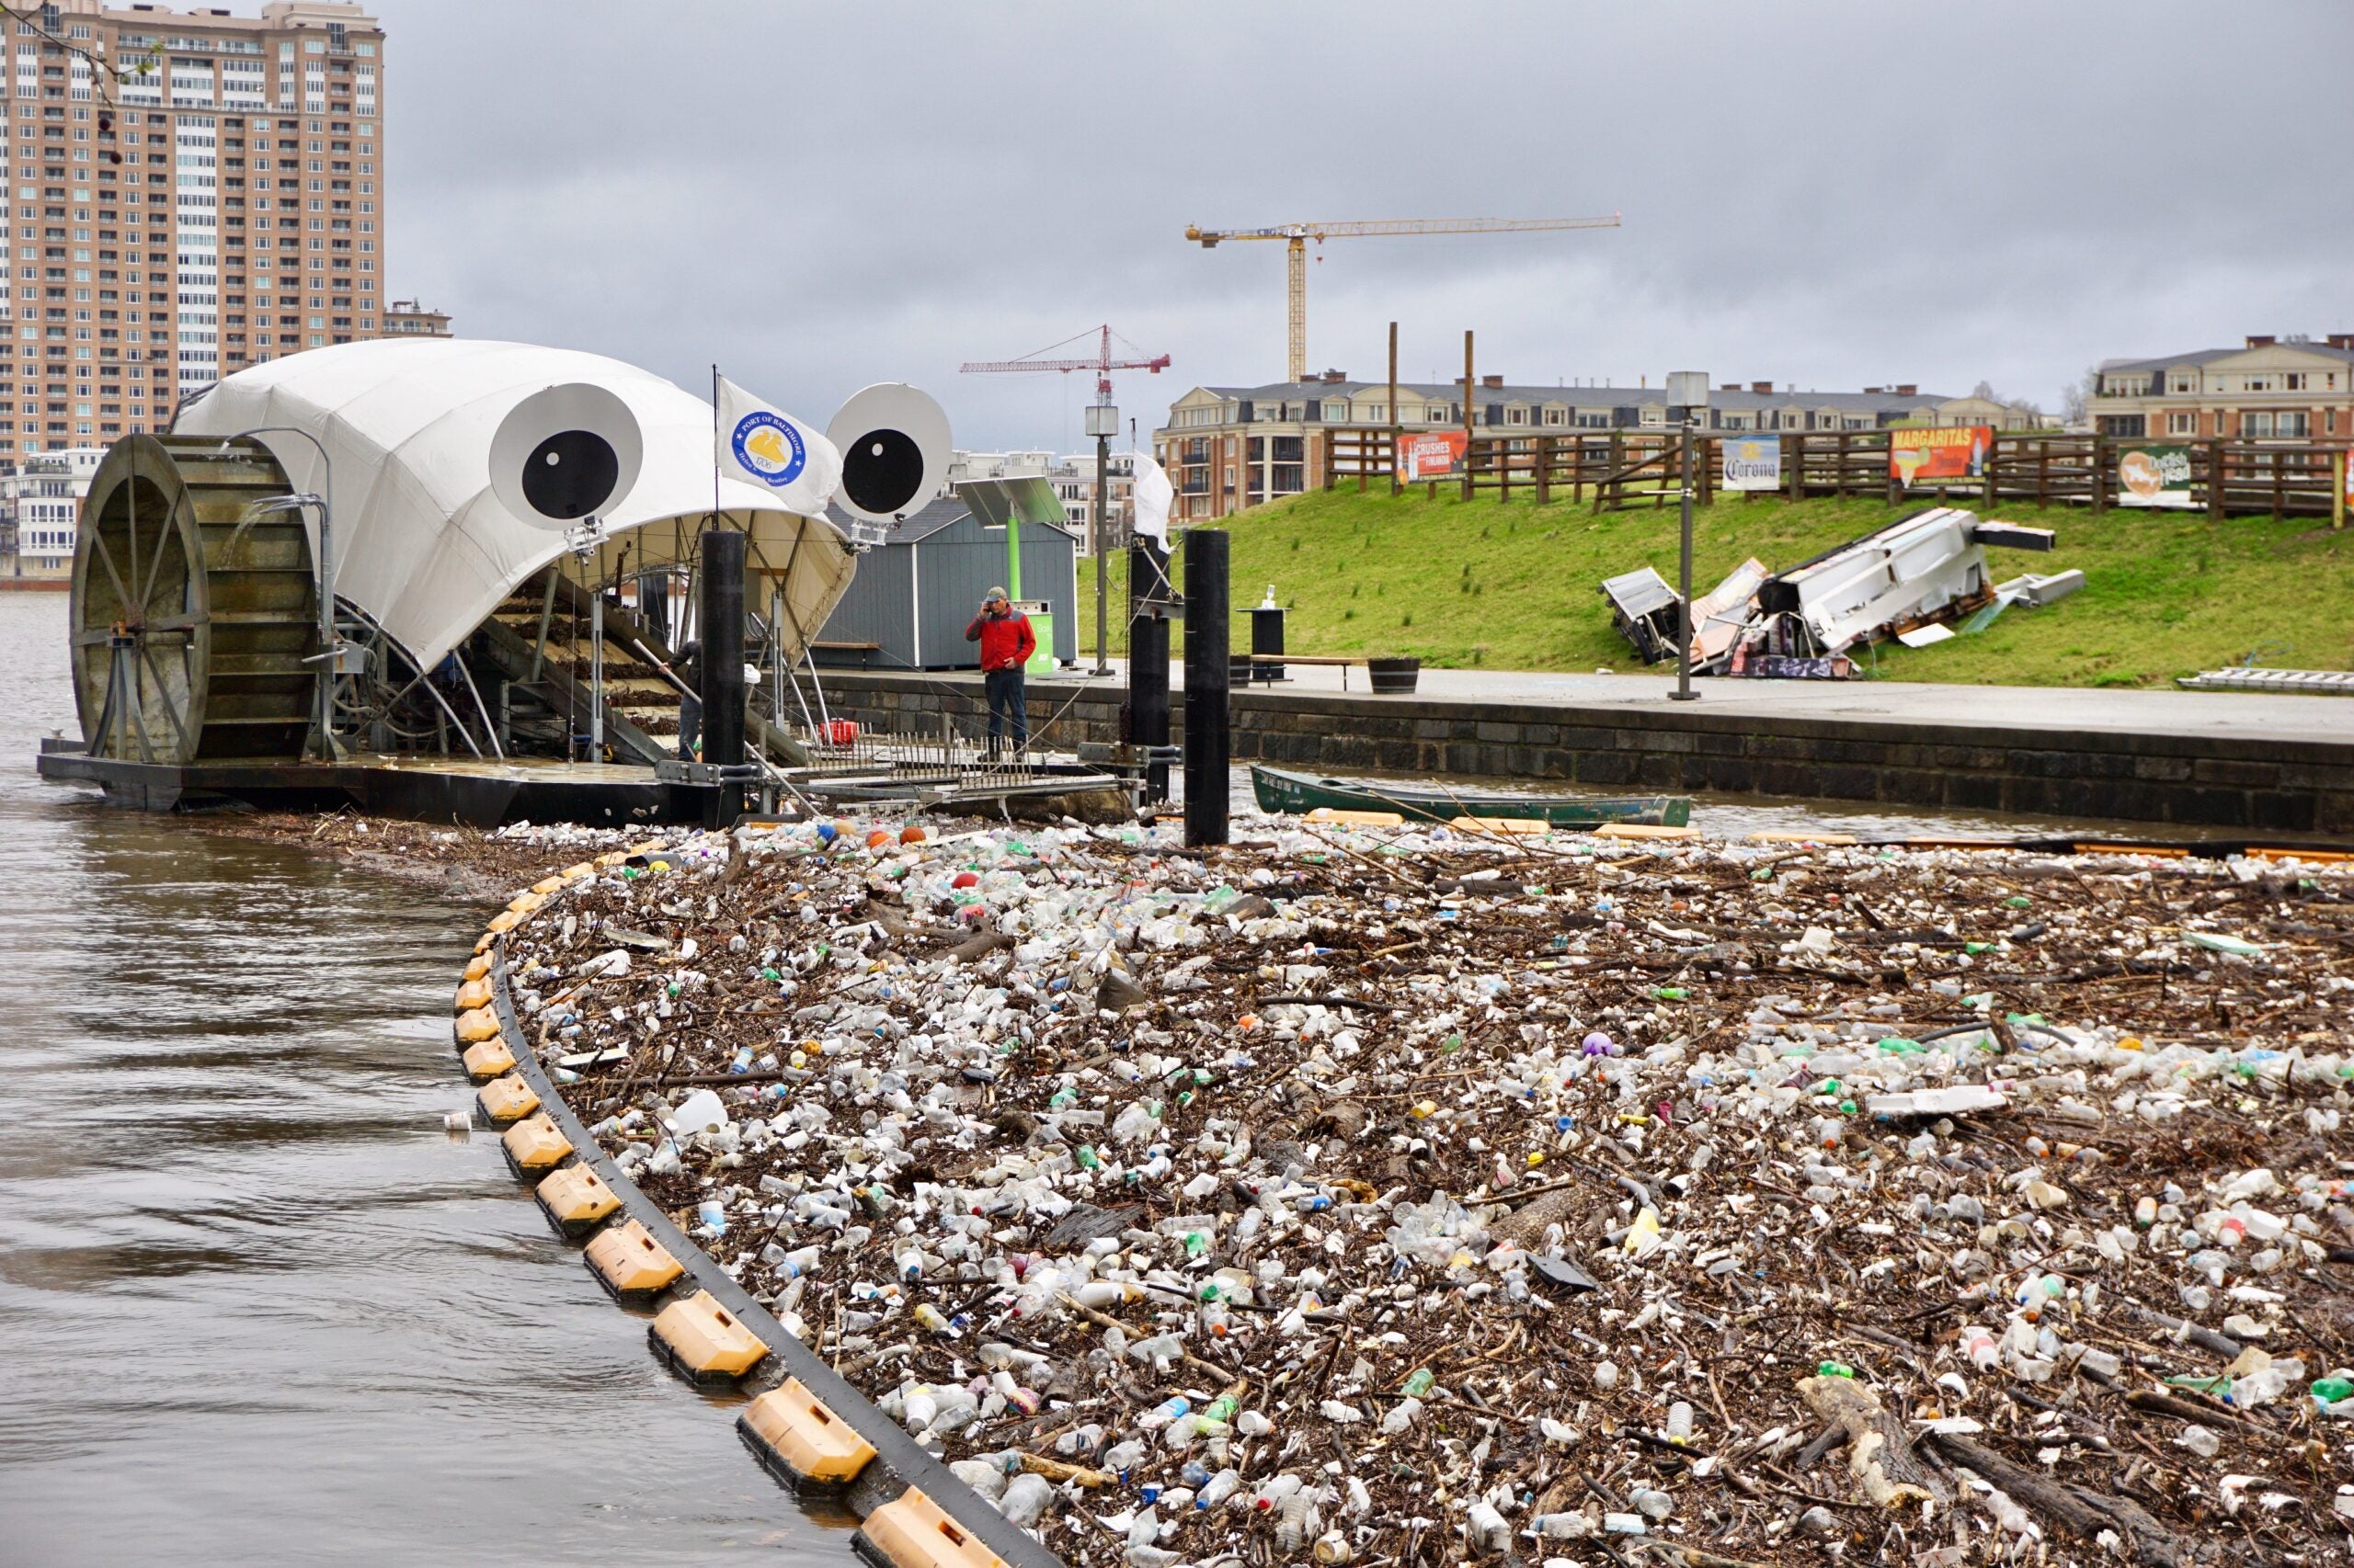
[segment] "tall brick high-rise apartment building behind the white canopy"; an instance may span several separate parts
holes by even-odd
[[[384,31],[360,5],[54,0],[0,26],[0,464],[381,334]]]

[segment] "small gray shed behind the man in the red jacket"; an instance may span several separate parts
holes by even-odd
[[[836,516],[847,530],[847,518]],[[965,626],[1005,574],[1005,527],[960,497],[930,501],[859,556],[857,577],[810,643],[822,669],[979,669]],[[1022,525],[1024,603],[1055,617],[1055,662],[1078,659],[1078,537],[1066,523]]]

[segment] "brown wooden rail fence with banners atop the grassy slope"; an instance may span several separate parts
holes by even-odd
[[[1723,443],[1756,436],[1700,436],[1693,443],[1693,501],[1709,506],[1721,487]],[[2208,516],[2272,516],[2342,520],[2345,445],[2314,440],[2128,440],[2119,436],[2055,436],[1996,431],[1984,469],[1970,478],[1904,485],[1888,466],[1890,431],[1782,431],[1787,497],[1853,494],[1907,497],[1996,506],[2119,506],[2116,461],[2135,447],[2189,450],[2189,509]],[[1401,490],[1394,478],[1394,433],[1379,426],[1328,426],[1323,487],[1354,483]],[[1563,431],[1554,436],[1474,433],[1464,464],[1419,480],[1429,494],[1445,487],[1464,499],[1495,492],[1504,499],[1577,501],[1594,511],[1669,506],[1683,497],[1681,436],[1676,431]]]

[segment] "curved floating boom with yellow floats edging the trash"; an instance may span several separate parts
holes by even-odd
[[[581,866],[581,871],[586,871],[586,866]],[[544,897],[544,892],[532,897],[534,911]],[[1062,1568],[1059,1556],[1048,1552],[1029,1530],[1005,1519],[1005,1514],[991,1507],[989,1500],[958,1481],[949,1467],[920,1448],[916,1439],[899,1427],[899,1422],[883,1415],[864,1394],[850,1387],[840,1373],[826,1366],[817,1351],[803,1344],[796,1335],[786,1333],[784,1323],[779,1323],[774,1314],[760,1307],[749,1290],[734,1283],[734,1278],[730,1278],[713,1257],[687,1241],[687,1236],[671,1224],[671,1217],[661,1210],[661,1205],[638,1191],[638,1184],[631,1182],[603,1149],[598,1149],[598,1142],[581,1125],[579,1116],[572,1114],[572,1107],[565,1104],[556,1083],[548,1081],[546,1069],[539,1064],[539,1052],[532,1050],[530,1038],[523,1034],[523,1022],[516,1017],[516,1003],[506,979],[506,944],[499,937],[506,930],[513,930],[520,918],[523,916],[518,911],[508,909],[499,916],[499,921],[492,921],[492,930],[485,932],[478,956],[490,958],[487,977],[492,996],[483,1012],[490,1012],[497,1019],[494,1038],[504,1041],[508,1055],[516,1059],[511,1076],[520,1078],[520,1088],[537,1099],[534,1109],[546,1114],[546,1118],[556,1125],[556,1132],[563,1135],[574,1151],[572,1163],[544,1177],[539,1187],[544,1189],[565,1170],[581,1170],[581,1177],[574,1177],[574,1182],[588,1182],[593,1177],[612,1194],[612,1198],[619,1201],[610,1217],[600,1220],[593,1231],[579,1231],[579,1238],[596,1245],[598,1236],[621,1234],[629,1224],[636,1224],[636,1231],[626,1231],[631,1241],[643,1234],[654,1243],[654,1248],[683,1267],[678,1278],[673,1278],[666,1288],[636,1293],[629,1302],[633,1307],[654,1307],[659,1316],[659,1309],[664,1307],[687,1304],[697,1297],[709,1300],[734,1318],[734,1323],[751,1330],[751,1335],[770,1351],[742,1380],[739,1387],[746,1394],[760,1396],[798,1382],[800,1387],[793,1396],[796,1401],[810,1398],[819,1403],[833,1420],[859,1439],[859,1446],[873,1450],[873,1460],[864,1462],[857,1476],[847,1483],[838,1481],[833,1474],[812,1476],[817,1486],[803,1486],[803,1490],[812,1497],[824,1495],[829,1502],[838,1497],[840,1504],[859,1519],[866,1519],[885,1504],[909,1500],[906,1509],[885,1519],[899,1519],[911,1509],[920,1509],[927,1519],[937,1516],[951,1521],[965,1547],[986,1549],[982,1554],[967,1552],[967,1561],[986,1563],[986,1554],[996,1554],[1005,1568]],[[476,1017],[476,1012],[468,1010],[459,1017]],[[452,1029],[452,1034],[461,1031]],[[464,1045],[468,1045],[468,1041],[459,1038],[461,1050]],[[520,1116],[516,1121],[520,1121]],[[596,1276],[598,1283],[607,1283],[596,1267],[596,1257],[588,1257],[586,1262],[591,1276]],[[661,1351],[657,1349],[654,1354]],[[742,1427],[744,1422],[739,1422],[739,1429]],[[760,1457],[763,1467],[772,1467],[772,1455],[763,1453],[760,1436],[756,1431],[746,1431],[744,1441]],[[831,1493],[836,1486],[840,1490]],[[930,1535],[939,1537],[939,1530],[935,1528]],[[878,1542],[869,1542],[864,1530],[855,1537],[855,1544],[864,1556],[878,1556]],[[913,1563],[902,1568],[913,1568]]]

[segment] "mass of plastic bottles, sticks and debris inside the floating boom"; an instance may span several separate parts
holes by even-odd
[[[607,859],[513,1001],[1064,1561],[2342,1544],[2347,866],[824,826]]]

